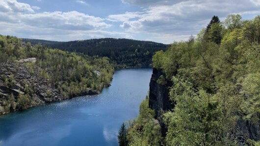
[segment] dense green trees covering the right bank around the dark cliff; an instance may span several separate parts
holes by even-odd
[[[163,72],[158,84],[173,85],[166,136],[146,99],[138,118],[122,125],[120,146],[260,146],[257,134],[250,139],[237,131],[238,123],[260,125],[260,16],[242,21],[232,14],[224,22],[214,16],[196,39],[156,52],[153,67]]]

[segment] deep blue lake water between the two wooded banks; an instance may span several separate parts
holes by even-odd
[[[2,146],[117,146],[118,130],[137,117],[151,75],[148,68],[122,69],[100,95],[0,116]]]

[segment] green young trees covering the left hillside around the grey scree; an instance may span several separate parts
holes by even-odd
[[[109,85],[114,72],[114,67],[107,57],[90,57],[41,45],[32,46],[29,42],[25,45],[16,37],[0,36],[0,51],[7,56],[0,58],[2,62],[35,57],[36,62],[24,64],[28,72],[32,76],[50,80],[52,86],[64,97],[74,97],[88,89],[101,91]],[[16,84],[13,74],[4,81],[10,88]],[[34,91],[26,85],[25,93],[33,96]]]

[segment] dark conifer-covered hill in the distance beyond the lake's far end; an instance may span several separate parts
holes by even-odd
[[[52,48],[81,52],[89,56],[106,56],[119,67],[149,66],[152,56],[169,45],[130,39],[91,39],[53,44]]]

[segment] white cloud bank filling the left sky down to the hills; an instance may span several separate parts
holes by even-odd
[[[128,35],[104,31],[104,28],[112,25],[100,17],[77,11],[34,11],[38,9],[40,8],[16,0],[0,0],[0,33],[57,41]]]

